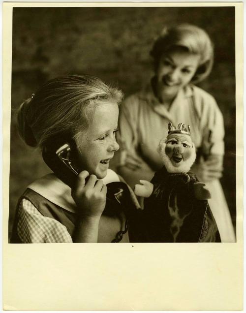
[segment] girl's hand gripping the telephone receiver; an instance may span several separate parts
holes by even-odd
[[[83,217],[100,217],[106,204],[107,187],[101,179],[95,175],[89,176],[88,171],[82,171],[78,175],[77,183],[72,189],[71,195],[78,206],[79,214]]]

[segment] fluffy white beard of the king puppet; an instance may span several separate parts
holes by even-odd
[[[190,170],[192,164],[194,163],[194,161],[196,159],[195,145],[193,144],[193,147],[191,148],[192,154],[191,154],[190,158],[185,160],[182,165],[175,167],[175,166],[173,166],[172,162],[170,161],[170,158],[166,155],[166,152],[165,152],[166,144],[163,141],[160,141],[160,143],[159,143],[158,152],[162,158],[162,161],[163,161],[168,173],[187,173]]]

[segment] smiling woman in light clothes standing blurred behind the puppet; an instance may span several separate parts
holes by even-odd
[[[211,72],[214,50],[208,34],[188,24],[165,28],[154,42],[151,84],[121,106],[119,173],[130,186],[151,180],[162,167],[157,146],[167,125],[190,125],[197,147],[191,168],[212,193],[209,201],[222,242],[235,242],[229,209],[221,188],[224,155],[222,114],[212,95],[196,87]]]

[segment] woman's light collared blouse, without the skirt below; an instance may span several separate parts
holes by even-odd
[[[117,137],[120,147],[129,154],[142,157],[154,171],[162,167],[157,152],[161,138],[167,135],[167,125],[184,123],[191,127],[195,147],[203,146],[208,131],[212,131],[211,154],[224,155],[224,125],[214,97],[190,85],[180,90],[169,110],[154,96],[151,86],[129,96],[120,107]],[[156,149],[155,149],[156,147]]]

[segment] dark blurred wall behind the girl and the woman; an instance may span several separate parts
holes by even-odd
[[[213,94],[224,116],[221,179],[236,226],[235,9],[234,7],[13,8],[9,233],[18,197],[49,172],[38,149],[25,145],[15,115],[23,99],[64,74],[92,74],[134,93],[152,75],[149,51],[165,25],[192,23],[215,43],[215,64],[200,87]]]

